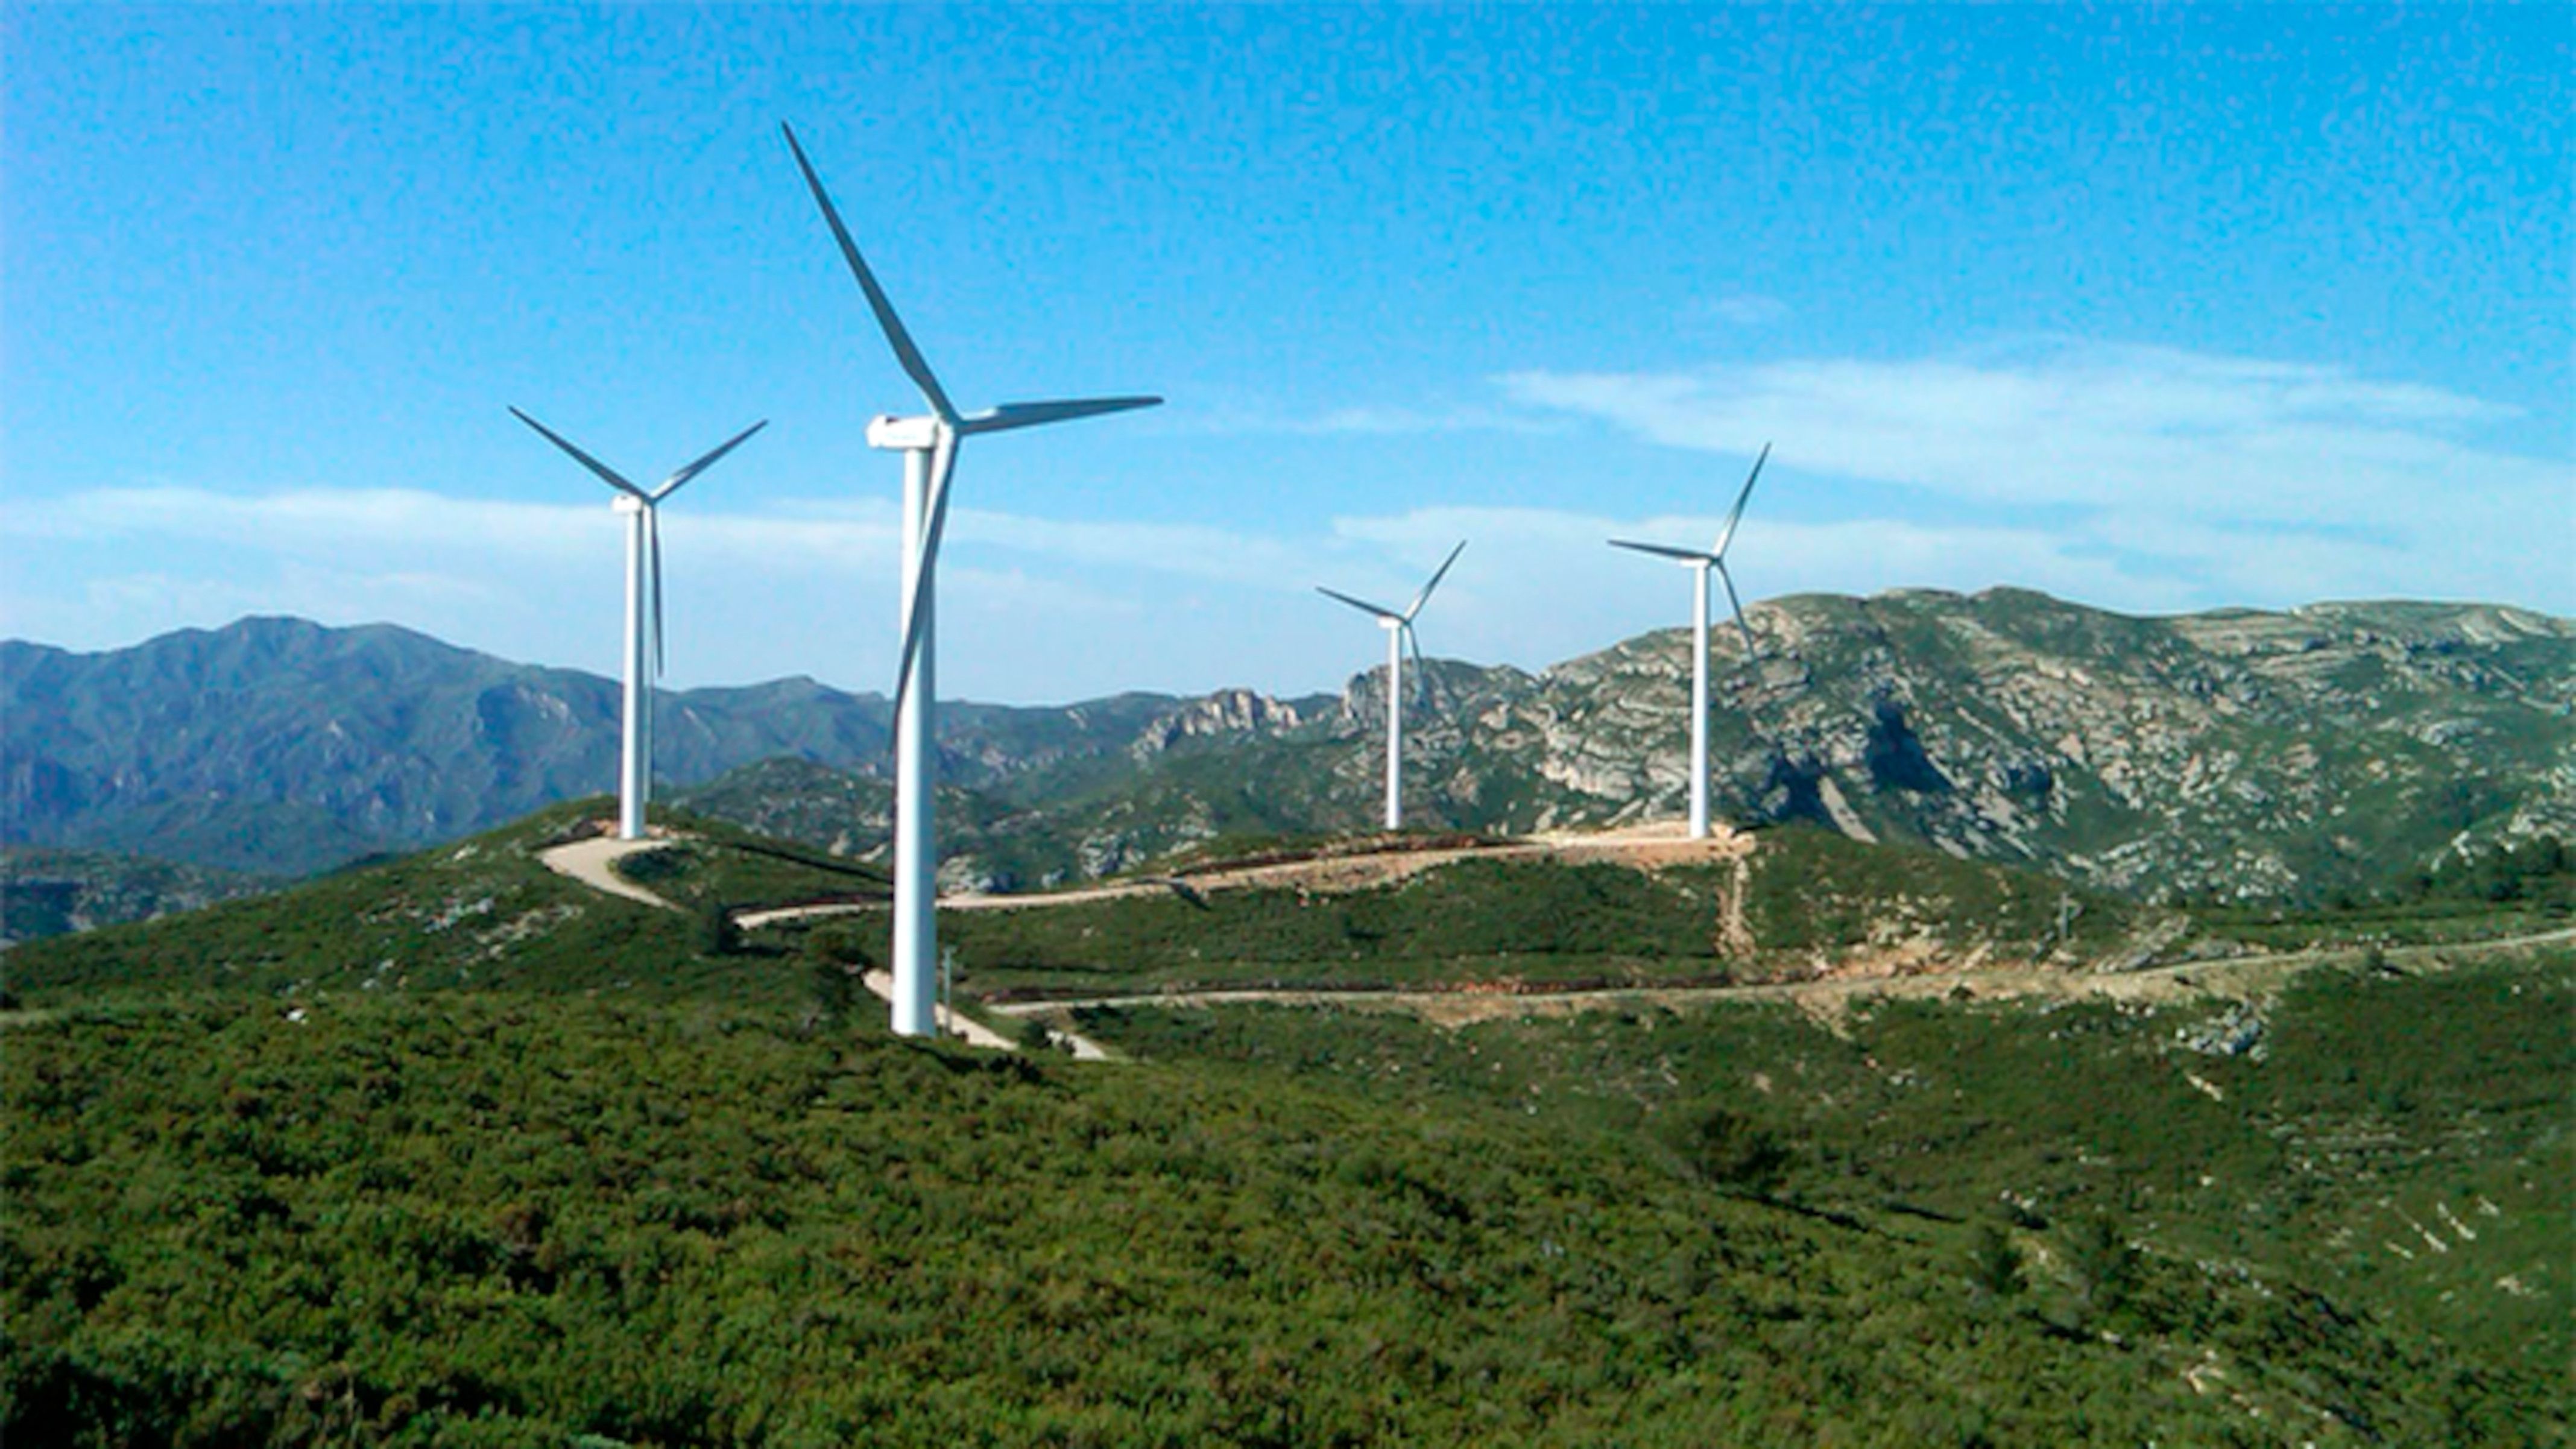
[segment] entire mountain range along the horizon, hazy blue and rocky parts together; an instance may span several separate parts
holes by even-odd
[[[2331,603],[2130,619],[2038,593],[1757,606],[1718,642],[1718,807],[2148,895],[2370,887],[2460,841],[2576,838],[2576,624]],[[1432,660],[1409,817],[1680,812],[1687,632],[1522,673]],[[1100,874],[1234,830],[1363,830],[1383,670],[1342,696],[943,709],[958,879]],[[791,763],[768,763],[786,758]],[[886,701],[814,681],[665,696],[675,802],[866,853]],[[739,771],[726,779],[724,771]],[[268,871],[608,789],[616,686],[392,627],[245,619],[134,650],[0,645],[0,841]],[[842,779],[855,776],[855,779]]]

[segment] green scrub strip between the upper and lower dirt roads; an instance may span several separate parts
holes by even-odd
[[[1221,861],[1188,861],[1193,879],[1221,874]],[[1731,933],[1731,915],[1741,933]],[[886,959],[886,931],[881,915],[773,928],[778,941],[822,933],[876,962]],[[1368,890],[1185,882],[1118,900],[951,910],[940,933],[958,993],[994,1000],[1311,985],[1744,985],[1839,967],[1994,959],[2094,969],[2236,949],[2195,936],[2179,913],[1803,825],[1757,833],[1741,874],[1734,864],[1638,869],[1497,848]]]

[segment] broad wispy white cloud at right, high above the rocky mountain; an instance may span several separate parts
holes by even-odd
[[[2563,554],[2548,557],[2576,516],[2568,459],[2483,443],[2509,407],[2336,366],[2040,338],[1911,361],[1522,371],[1502,389],[1677,449],[1777,438],[1775,464],[1896,485],[1924,511],[2045,511],[2061,541],[2200,580],[2210,601],[2568,596]]]

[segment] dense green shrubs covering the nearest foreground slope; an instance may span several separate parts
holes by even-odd
[[[5,1083],[28,1444],[2553,1431],[2308,1294],[2159,1258],[2125,1336],[2069,1336],[1940,1235],[1229,1065],[505,993],[77,1011],[13,1026]]]

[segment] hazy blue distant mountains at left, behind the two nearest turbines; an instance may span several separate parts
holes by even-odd
[[[1123,743],[1154,709],[958,706],[951,771],[1056,761],[1097,730]],[[613,681],[389,624],[242,619],[98,655],[0,642],[0,843],[301,874],[611,789],[616,753]],[[881,696],[809,678],[662,696],[665,781],[884,753]]]

